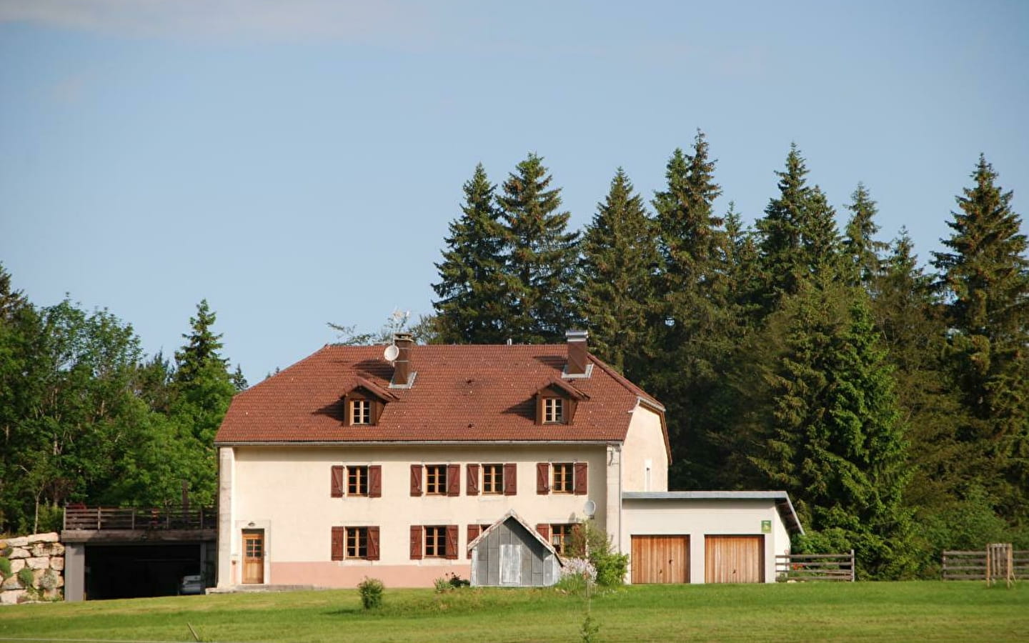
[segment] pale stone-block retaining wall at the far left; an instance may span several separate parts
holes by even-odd
[[[2,605],[60,601],[64,597],[64,545],[58,534],[0,538],[0,577]]]

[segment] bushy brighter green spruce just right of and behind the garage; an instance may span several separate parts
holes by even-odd
[[[902,504],[907,442],[891,366],[864,293],[822,275],[801,282],[769,320],[764,425],[751,457],[785,489],[807,529],[852,543],[859,571],[911,573]]]

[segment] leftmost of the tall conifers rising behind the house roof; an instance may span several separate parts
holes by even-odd
[[[462,215],[451,222],[443,260],[436,263],[439,297],[432,306],[440,344],[500,344],[507,336],[504,230],[494,186],[482,164],[464,184]]]

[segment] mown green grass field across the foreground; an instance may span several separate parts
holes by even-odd
[[[573,641],[587,602],[554,590],[236,594],[0,608],[0,641]],[[601,641],[1025,641],[1029,585],[644,585],[592,599]],[[187,624],[188,623],[188,624]]]

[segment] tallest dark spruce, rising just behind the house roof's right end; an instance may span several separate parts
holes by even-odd
[[[673,484],[700,487],[710,485],[721,466],[709,432],[719,425],[713,402],[736,346],[738,320],[730,301],[731,248],[714,213],[721,188],[702,132],[690,152],[672,153],[666,188],[654,194],[664,297],[655,316],[661,332],[653,356],[660,360],[643,384],[668,407]]]

